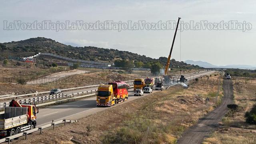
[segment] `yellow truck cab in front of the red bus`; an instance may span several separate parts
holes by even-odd
[[[116,103],[116,98],[114,97],[113,86],[102,84],[98,87],[96,92],[96,105],[97,106],[112,106]]]

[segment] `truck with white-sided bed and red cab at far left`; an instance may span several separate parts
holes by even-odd
[[[4,114],[0,114],[0,137],[12,136],[35,128],[37,113],[36,106],[12,100],[9,107],[4,108]]]

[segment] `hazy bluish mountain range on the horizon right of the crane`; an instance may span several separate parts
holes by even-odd
[[[210,64],[208,62],[202,62],[202,61],[193,61],[193,60],[186,60],[187,64],[194,64],[198,65],[204,68],[240,68],[240,69],[249,69],[249,70],[255,70],[256,66],[250,66],[250,65],[239,65],[239,64],[229,64],[226,66],[215,66],[213,64]]]

